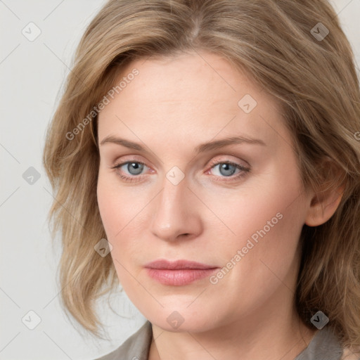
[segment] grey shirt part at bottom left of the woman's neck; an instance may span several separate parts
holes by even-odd
[[[139,328],[120,347],[96,360],[148,360],[153,330],[150,321]]]

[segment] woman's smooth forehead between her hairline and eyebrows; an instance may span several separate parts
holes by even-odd
[[[129,133],[124,124],[142,134],[183,139],[197,134],[205,141],[219,133],[245,133],[269,143],[284,132],[278,102],[217,54],[134,60],[122,69],[117,84],[134,69],[139,74],[101,110],[99,140],[110,131]]]

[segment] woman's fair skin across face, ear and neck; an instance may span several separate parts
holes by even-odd
[[[330,219],[338,193],[317,201],[314,191],[302,191],[276,99],[221,56],[136,60],[122,76],[134,68],[139,75],[99,114],[98,142],[122,137],[148,153],[100,145],[97,195],[119,281],[153,326],[149,359],[294,359],[314,336],[293,306],[300,232]],[[257,101],[250,113],[238,106],[246,94]],[[201,143],[229,136],[266,146],[195,153]],[[126,161],[146,166],[140,175],[127,165],[113,169]],[[230,167],[229,176],[221,172],[225,161],[250,171]],[[185,176],[177,185],[166,176],[174,166]],[[207,277],[162,285],[143,267],[161,258],[222,268],[278,213],[283,217],[215,284]],[[176,329],[167,322],[173,311],[184,319]]]

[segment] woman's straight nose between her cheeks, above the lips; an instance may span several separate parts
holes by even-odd
[[[152,203],[151,231],[154,236],[172,242],[190,240],[203,230],[200,202],[188,188],[186,177],[177,185],[165,177],[162,191]]]

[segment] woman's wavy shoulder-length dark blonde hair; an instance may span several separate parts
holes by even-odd
[[[79,43],[44,148],[56,195],[53,236],[62,232],[63,304],[98,335],[96,300],[118,285],[111,257],[94,250],[106,237],[96,199],[94,106],[132,60],[188,50],[219,54],[279,101],[304,189],[336,188],[341,176],[344,191],[333,217],[303,226],[294,301],[304,323],[310,326],[321,310],[342,345],[360,345],[359,79],[326,0],[110,0],[103,6]]]

